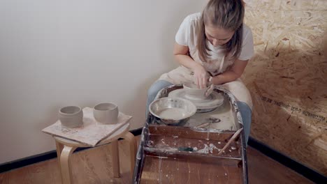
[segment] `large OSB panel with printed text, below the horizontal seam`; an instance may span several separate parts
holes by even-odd
[[[246,24],[252,137],[327,175],[327,11],[247,9]]]

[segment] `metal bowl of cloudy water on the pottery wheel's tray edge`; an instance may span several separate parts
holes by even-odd
[[[159,98],[150,104],[149,111],[166,125],[183,125],[196,113],[196,106],[189,100]]]

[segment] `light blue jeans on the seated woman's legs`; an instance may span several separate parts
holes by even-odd
[[[146,109],[146,117],[149,114],[149,105],[153,102],[154,98],[156,98],[157,93],[167,86],[173,85],[165,80],[158,80],[154,82],[150,89],[147,91],[147,109]],[[242,116],[244,133],[245,133],[245,143],[249,140],[250,128],[251,128],[251,120],[252,120],[252,111],[245,102],[237,102],[238,108],[240,109],[240,114]]]

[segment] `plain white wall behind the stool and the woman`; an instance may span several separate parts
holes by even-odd
[[[177,66],[175,32],[205,1],[0,1],[0,163],[55,149],[66,105],[115,102],[145,122],[146,93]]]

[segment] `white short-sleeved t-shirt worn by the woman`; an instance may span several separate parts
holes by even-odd
[[[176,33],[175,41],[179,45],[189,47],[189,53],[194,61],[201,63],[205,69],[208,70],[208,72],[211,72],[212,75],[215,76],[220,72],[224,72],[228,66],[233,64],[233,61],[224,61],[221,68],[220,61],[224,56],[224,49],[221,46],[214,47],[209,41],[207,41],[207,44],[212,50],[212,52],[209,52],[211,56],[209,56],[209,60],[207,62],[201,61],[201,59],[198,57],[198,49],[196,48],[200,18],[201,13],[194,13],[187,16]],[[242,50],[238,59],[246,61],[251,59],[253,55],[254,46],[252,31],[247,25],[243,24]]]

